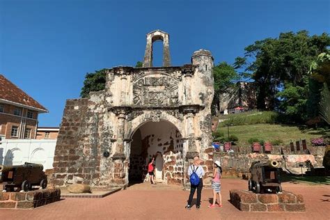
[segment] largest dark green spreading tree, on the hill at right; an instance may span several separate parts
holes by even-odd
[[[246,47],[244,57],[237,57],[234,66],[256,81],[258,109],[274,110],[280,106],[287,107],[282,109],[287,113],[298,113],[295,108],[306,104],[310,65],[318,54],[327,52],[329,45],[327,33],[320,36],[309,36],[308,31],[281,33],[278,38],[258,40]],[[305,97],[290,97],[301,90]]]

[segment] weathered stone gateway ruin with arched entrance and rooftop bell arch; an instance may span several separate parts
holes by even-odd
[[[185,185],[191,159],[210,159],[212,54],[200,49],[191,64],[171,66],[168,33],[157,30],[146,37],[142,68],[107,70],[103,91],[67,100],[54,157],[56,186],[143,182],[151,157],[158,182]],[[156,40],[164,44],[162,67],[152,66]],[[212,162],[203,168],[212,173]]]

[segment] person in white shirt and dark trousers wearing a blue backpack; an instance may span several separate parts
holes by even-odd
[[[205,175],[204,169],[201,166],[201,159],[199,156],[194,157],[194,163],[191,164],[188,168],[188,175],[190,179],[190,194],[188,199],[188,204],[186,205],[186,209],[191,209],[191,202],[194,197],[195,191],[197,189],[197,201],[196,208],[199,209],[201,207],[201,196],[203,189],[203,176]]]

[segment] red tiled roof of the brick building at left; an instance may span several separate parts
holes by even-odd
[[[33,100],[30,95],[27,95],[22,89],[6,79],[2,74],[0,74],[0,99],[15,102],[17,104],[24,104],[27,107],[36,108],[37,111],[38,109],[41,111],[48,111],[45,107],[39,104],[39,102]]]

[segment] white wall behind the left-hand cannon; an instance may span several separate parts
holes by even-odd
[[[0,165],[21,165],[25,162],[53,168],[56,140],[3,140],[0,141]]]

